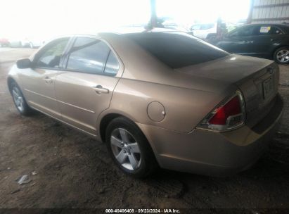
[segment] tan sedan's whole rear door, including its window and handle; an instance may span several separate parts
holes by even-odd
[[[98,115],[110,105],[122,64],[109,44],[96,37],[76,37],[56,79],[56,96],[65,122],[96,135]]]

